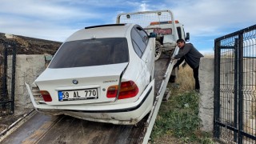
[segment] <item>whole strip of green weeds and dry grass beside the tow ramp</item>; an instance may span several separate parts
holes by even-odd
[[[169,134],[179,138],[182,143],[214,143],[211,134],[199,130],[201,122],[198,116],[199,94],[194,91],[194,82],[191,81],[191,78],[187,78],[193,72],[187,68],[182,69],[182,77],[179,74],[177,79],[179,83],[168,86],[172,91],[172,96],[160,107],[151,134],[151,141],[154,142],[154,138],[161,138],[162,135]],[[179,73],[182,69],[179,70]],[[190,80],[186,81],[185,79]]]

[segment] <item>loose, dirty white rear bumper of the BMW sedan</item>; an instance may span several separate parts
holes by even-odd
[[[36,110],[43,114],[59,115],[66,114],[75,118],[81,118],[94,122],[109,122],[122,125],[134,125],[148,114],[154,101],[154,80],[146,87],[136,102],[104,105],[68,105],[50,106],[37,104],[31,93],[30,86],[27,89],[31,101]]]

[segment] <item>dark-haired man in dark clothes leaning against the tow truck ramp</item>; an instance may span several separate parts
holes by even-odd
[[[185,59],[186,63],[193,69],[194,81],[195,81],[195,90],[200,90],[199,78],[198,78],[198,69],[200,58],[203,55],[194,48],[191,43],[186,43],[183,39],[177,40],[177,46],[179,47],[179,52],[175,55],[172,60],[178,59],[177,63],[174,65],[174,68],[179,66]]]

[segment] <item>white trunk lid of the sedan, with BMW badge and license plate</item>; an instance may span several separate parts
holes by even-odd
[[[49,105],[114,102],[107,98],[109,86],[119,84],[128,62],[75,68],[47,68],[35,81],[40,90],[49,92]]]

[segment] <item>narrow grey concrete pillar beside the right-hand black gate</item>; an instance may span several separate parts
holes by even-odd
[[[214,127],[214,58],[201,58],[199,82],[201,130],[212,132]]]

